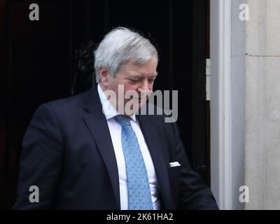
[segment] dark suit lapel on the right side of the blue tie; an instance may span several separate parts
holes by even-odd
[[[160,144],[162,140],[158,136],[158,131],[155,129],[155,125],[151,123],[148,116],[139,115],[137,117],[141,131],[144,134],[146,144],[148,145],[148,149],[151,153],[155,173],[160,187],[160,193],[162,195],[162,200],[165,203],[165,209],[175,209],[168,179],[167,164],[162,155],[162,146]]]

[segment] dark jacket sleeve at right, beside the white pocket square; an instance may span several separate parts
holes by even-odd
[[[176,123],[172,123],[172,130],[174,137],[172,160],[179,161],[181,164],[181,179],[177,200],[178,209],[218,209],[211,190],[204,185],[200,176],[193,172],[190,167]]]

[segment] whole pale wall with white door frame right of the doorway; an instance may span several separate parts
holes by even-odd
[[[279,0],[211,0],[211,188],[221,209],[280,209],[279,21]]]

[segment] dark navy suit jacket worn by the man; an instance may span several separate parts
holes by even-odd
[[[138,115],[158,178],[162,209],[218,209],[190,169],[176,123]],[[22,141],[14,209],[120,209],[118,167],[97,86],[41,105]],[[181,167],[169,167],[179,162]],[[39,202],[29,202],[38,186]]]

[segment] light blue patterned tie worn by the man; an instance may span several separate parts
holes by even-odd
[[[118,115],[115,119],[122,126],[129,209],[153,210],[148,174],[137,136],[130,125],[130,117]]]

